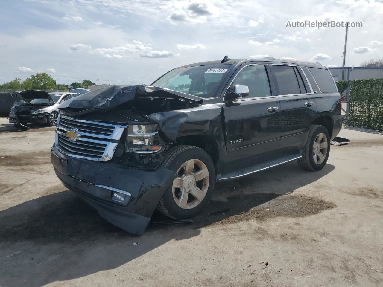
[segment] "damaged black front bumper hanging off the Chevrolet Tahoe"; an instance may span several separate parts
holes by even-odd
[[[162,167],[144,171],[111,161],[68,157],[54,146],[51,163],[65,187],[94,207],[101,217],[135,235],[145,231],[165,189],[177,177]],[[112,199],[116,192],[124,194],[123,201]]]

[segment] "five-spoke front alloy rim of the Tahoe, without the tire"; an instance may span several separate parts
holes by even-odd
[[[184,162],[173,181],[173,198],[182,209],[192,209],[205,198],[209,188],[209,171],[201,160]]]

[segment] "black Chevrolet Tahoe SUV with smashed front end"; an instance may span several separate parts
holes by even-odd
[[[102,88],[59,110],[58,178],[136,235],[155,209],[195,216],[218,181],[292,160],[320,170],[342,124],[326,67],[274,58],[186,65],[150,86]]]

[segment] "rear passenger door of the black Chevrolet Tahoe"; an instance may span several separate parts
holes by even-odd
[[[316,113],[314,93],[298,65],[272,65],[281,104],[281,145],[285,155],[298,153]]]

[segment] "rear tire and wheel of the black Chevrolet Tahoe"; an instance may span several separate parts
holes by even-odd
[[[312,125],[298,165],[304,170],[321,170],[327,163],[329,153],[330,136],[326,127]]]

